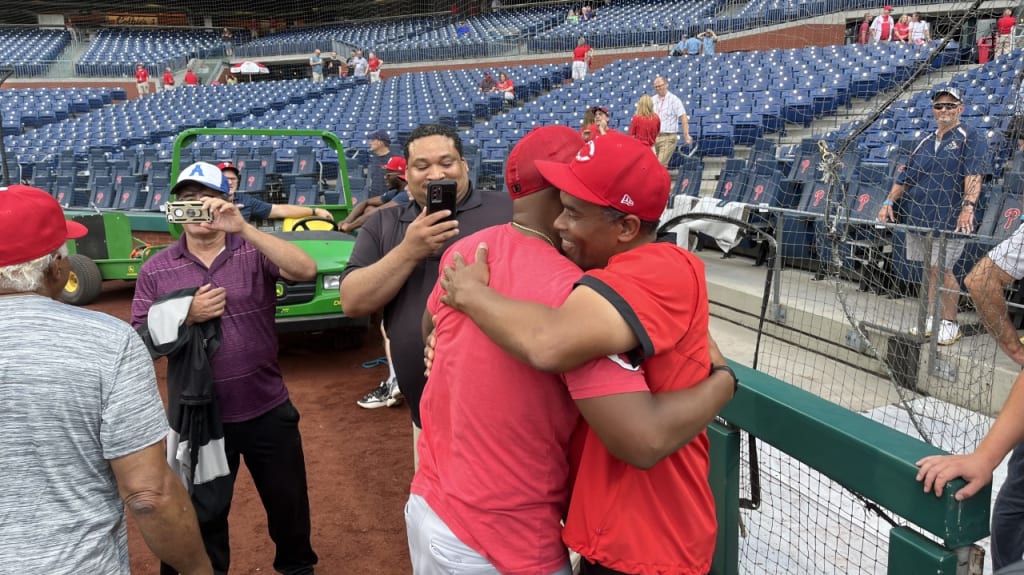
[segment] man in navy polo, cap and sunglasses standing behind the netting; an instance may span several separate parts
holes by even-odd
[[[975,210],[981,195],[981,181],[986,171],[988,143],[980,130],[962,126],[964,99],[956,88],[942,88],[932,95],[932,114],[938,125],[910,152],[906,168],[896,174],[889,196],[879,210],[879,220],[894,222],[893,205],[902,198],[903,223],[933,230],[906,234],[906,259],[928,262],[928,310],[932,311],[938,284],[942,282],[938,343],[948,346],[963,336],[956,322],[959,282],[952,267],[964,253],[967,239],[974,233]],[[931,235],[929,240],[926,235]],[[940,252],[942,235],[945,251]],[[926,247],[931,246],[931,254]],[[927,257],[926,257],[927,256]],[[941,270],[941,274],[940,274]],[[941,279],[940,279],[941,275]],[[932,335],[934,318],[925,323],[925,337]],[[911,329],[916,335],[916,329]]]

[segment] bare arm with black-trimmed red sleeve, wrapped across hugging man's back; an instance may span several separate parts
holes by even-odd
[[[486,247],[467,266],[459,254],[445,267],[441,303],[464,312],[492,341],[521,361],[544,371],[568,371],[605,355],[639,345],[622,314],[586,285],[572,291],[561,307],[511,300],[487,286]]]

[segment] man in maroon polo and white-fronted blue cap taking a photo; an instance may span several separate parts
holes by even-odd
[[[298,247],[247,223],[227,201],[227,180],[212,164],[193,164],[178,176],[171,193],[180,201],[203,202],[214,219],[184,224],[177,244],[142,265],[132,300],[132,325],[146,320],[150,307],[161,296],[199,288],[186,321],[220,318],[220,349],[210,362],[231,479],[245,456],[276,544],[274,570],[311,574],[317,558],[309,540],[299,413],[288,398],[278,365],[273,316],[278,278],[312,279],[316,264]],[[227,573],[230,563],[229,508],[200,523],[216,573]],[[168,572],[173,573],[162,571]]]

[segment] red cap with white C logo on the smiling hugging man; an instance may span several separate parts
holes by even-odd
[[[655,222],[672,181],[650,146],[620,132],[590,140],[568,164],[538,161],[546,180],[573,197]]]

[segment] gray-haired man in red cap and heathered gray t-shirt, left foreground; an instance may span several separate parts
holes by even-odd
[[[88,230],[23,185],[0,188],[0,565],[127,572],[127,510],[158,558],[211,574],[164,455],[167,416],[145,346],[125,322],[57,301],[71,270],[65,242]]]

